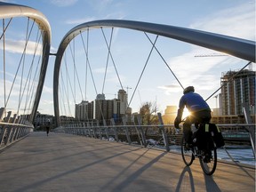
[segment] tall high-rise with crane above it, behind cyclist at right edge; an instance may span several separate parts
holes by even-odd
[[[243,107],[255,114],[255,71],[244,69],[236,76],[228,71],[220,79],[220,110],[222,116],[244,115]]]

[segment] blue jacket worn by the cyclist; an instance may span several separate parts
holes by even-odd
[[[180,98],[179,108],[183,110],[185,106],[188,108],[189,112],[196,112],[204,109],[211,110],[204,99],[196,92],[188,92]]]

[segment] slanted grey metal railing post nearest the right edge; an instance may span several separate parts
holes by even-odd
[[[244,104],[243,110],[244,110],[244,117],[245,117],[246,124],[252,124],[252,119],[251,119],[251,116],[250,116],[248,105]],[[249,132],[250,140],[251,140],[251,144],[252,144],[252,152],[253,152],[254,159],[255,159],[256,158],[256,154],[255,154],[255,127],[248,126],[247,128],[245,127],[245,129]]]

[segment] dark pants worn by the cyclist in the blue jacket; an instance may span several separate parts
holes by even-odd
[[[198,125],[201,123],[209,123],[211,121],[211,111],[210,110],[202,110],[191,113],[190,116],[187,117],[183,124],[183,133],[185,140],[188,143],[192,143],[192,131],[191,124],[195,124],[198,129]]]

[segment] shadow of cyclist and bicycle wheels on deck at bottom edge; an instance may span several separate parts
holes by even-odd
[[[188,173],[188,174],[186,174]],[[204,173],[203,173],[204,174]],[[186,185],[183,186],[182,182],[183,180],[186,179]],[[190,181],[190,190],[188,188],[188,180]],[[216,184],[216,182],[212,179],[212,176],[208,176],[204,174],[204,180],[205,180],[205,191],[214,191],[214,192],[219,192],[221,191],[220,188],[218,187],[218,185]],[[193,175],[192,172],[190,170],[189,166],[185,166],[183,171],[180,174],[180,179],[179,182],[177,184],[177,188],[175,190],[176,192],[180,192],[180,191],[192,191],[195,192],[195,185],[194,185],[194,179],[193,179]]]

